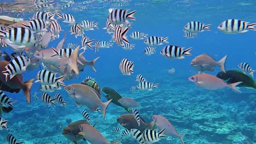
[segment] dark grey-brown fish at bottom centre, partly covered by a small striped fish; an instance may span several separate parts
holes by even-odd
[[[144,131],[145,129],[154,128],[155,126],[154,121],[147,124],[141,117],[139,117],[139,119],[140,119],[140,125],[138,126],[138,123],[134,118],[134,116],[132,115],[132,113],[127,113],[118,117],[117,122],[128,130],[138,129],[139,131]]]

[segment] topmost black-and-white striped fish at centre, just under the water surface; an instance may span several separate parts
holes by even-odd
[[[127,10],[124,9],[109,9],[108,21],[113,25],[120,25],[121,23],[128,22],[127,19],[136,20],[133,14],[136,10],[131,11],[127,14]]]

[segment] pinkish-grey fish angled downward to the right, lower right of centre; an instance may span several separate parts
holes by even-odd
[[[166,136],[177,136],[181,140],[182,144],[184,144],[182,137],[185,134],[178,134],[173,125],[165,117],[161,115],[154,115],[153,121],[155,122],[158,129],[165,129],[164,134]]]

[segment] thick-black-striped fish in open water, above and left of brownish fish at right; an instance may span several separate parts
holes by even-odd
[[[191,56],[189,51],[192,49],[192,47],[189,47],[187,50],[183,49],[184,47],[167,45],[162,49],[160,54],[167,58],[185,58],[184,56]]]

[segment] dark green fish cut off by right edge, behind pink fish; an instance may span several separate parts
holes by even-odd
[[[256,82],[253,78],[241,70],[231,69],[226,71],[226,73],[220,71],[216,76],[219,79],[225,80],[228,84],[242,81],[237,87],[256,88]]]

